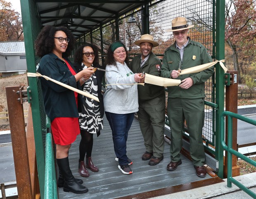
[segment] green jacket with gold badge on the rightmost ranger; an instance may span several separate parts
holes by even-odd
[[[163,64],[161,67],[161,77],[171,78],[171,71],[178,70],[181,62],[180,52],[176,48],[176,42],[168,47],[164,52]],[[206,48],[198,42],[190,40],[184,48],[183,62],[181,70],[188,69],[201,64],[212,62],[212,58]],[[184,80],[192,78],[193,85],[189,89],[182,89],[179,86],[168,87],[168,97],[197,99],[205,97],[204,82],[207,81],[214,72],[214,66],[198,73],[180,75],[176,79]]]

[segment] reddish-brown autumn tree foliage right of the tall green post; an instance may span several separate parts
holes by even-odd
[[[256,62],[256,1],[228,0],[225,10],[225,41],[230,48],[225,54],[226,63],[230,57],[233,66],[230,68],[238,71],[238,81],[241,83],[241,78]]]

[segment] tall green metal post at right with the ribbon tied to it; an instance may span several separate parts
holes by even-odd
[[[225,1],[216,0],[216,59],[225,58]],[[216,64],[216,159],[219,161],[218,176],[223,178],[223,148],[220,143],[220,118],[224,111],[224,71]]]

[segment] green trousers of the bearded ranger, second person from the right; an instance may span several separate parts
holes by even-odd
[[[164,154],[165,96],[139,103],[138,120],[146,151],[155,157]]]

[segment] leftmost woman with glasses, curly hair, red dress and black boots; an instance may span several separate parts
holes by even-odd
[[[45,26],[35,41],[36,55],[41,57],[38,72],[66,85],[82,89],[81,85],[94,73],[85,69],[76,73],[67,58],[75,44],[71,31],[65,27]],[[80,133],[78,108],[82,96],[61,85],[41,78],[45,112],[51,119],[56,144],[56,161],[59,167],[58,186],[64,192],[82,194],[88,189],[75,179],[69,168],[69,148]]]

